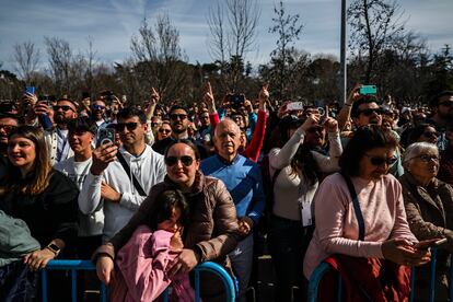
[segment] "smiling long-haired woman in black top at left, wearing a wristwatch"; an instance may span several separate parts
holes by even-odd
[[[23,258],[36,271],[60,254],[69,255],[67,246],[78,233],[79,190],[71,179],[51,167],[44,133],[36,127],[20,126],[11,131],[8,159],[7,176],[0,184],[0,210],[25,221],[39,242],[42,248]],[[61,274],[50,272],[53,281],[54,277],[61,279]],[[61,282],[53,284],[51,294],[59,294],[58,289],[68,290]],[[68,300],[59,298],[53,301]]]

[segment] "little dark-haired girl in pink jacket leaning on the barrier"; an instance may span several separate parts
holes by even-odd
[[[188,275],[171,279],[166,268],[183,249],[182,228],[189,212],[184,195],[169,189],[158,196],[149,225],[140,225],[118,252],[111,301],[153,301],[172,284],[171,301],[195,300]]]

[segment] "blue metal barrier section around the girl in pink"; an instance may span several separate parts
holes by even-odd
[[[77,271],[95,270],[96,267],[91,260],[50,260],[45,269],[42,270],[42,292],[43,302],[47,302],[47,270],[71,270],[72,282],[72,302],[77,301]],[[210,271],[216,274],[223,282],[225,288],[226,301],[233,302],[235,299],[235,287],[231,276],[220,265],[211,262],[200,264],[195,267],[195,301],[200,301],[200,271]],[[167,290],[164,300],[167,301]],[[104,283],[101,282],[101,301],[107,301],[107,291]]]

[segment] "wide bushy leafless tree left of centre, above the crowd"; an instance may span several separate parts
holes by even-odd
[[[154,27],[143,20],[139,35],[131,38],[131,50],[136,59],[133,71],[147,83],[144,91],[154,86],[164,102],[186,96],[186,58],[179,46],[179,32],[169,15],[159,15]]]

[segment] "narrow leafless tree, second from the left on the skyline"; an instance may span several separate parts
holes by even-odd
[[[55,80],[57,94],[69,93],[72,50],[69,43],[58,37],[45,37],[50,71]]]

